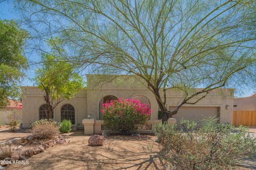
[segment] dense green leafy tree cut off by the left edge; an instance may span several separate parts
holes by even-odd
[[[19,84],[28,67],[24,45],[26,30],[13,20],[0,20],[0,110],[8,104],[8,98],[20,97]]]

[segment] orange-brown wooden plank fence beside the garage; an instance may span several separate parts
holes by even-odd
[[[233,125],[256,126],[256,111],[233,111]]]

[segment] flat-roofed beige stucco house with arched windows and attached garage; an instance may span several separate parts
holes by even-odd
[[[102,104],[110,99],[117,98],[135,98],[142,103],[150,105],[153,113],[151,122],[157,121],[158,105],[155,96],[141,82],[140,79],[134,78],[132,75],[119,75],[113,79],[113,75],[86,75],[87,88],[82,90],[75,98],[62,101],[55,108],[53,118],[61,122],[64,118],[71,120],[73,126],[83,128],[82,121],[85,118],[91,117],[95,120],[95,124],[102,124],[102,115],[100,113]],[[112,80],[111,82],[102,82],[103,80]],[[197,91],[198,89],[193,89]],[[44,92],[37,87],[22,87],[23,96],[23,127],[27,128],[30,123],[45,118],[45,102]],[[184,105],[180,108],[177,115],[177,122],[181,118],[202,120],[208,116],[216,116],[220,118],[221,123],[232,123],[232,113],[234,100],[234,89],[219,89],[214,90],[204,99],[200,100],[195,105]],[[225,96],[223,96],[225,94]],[[183,94],[181,91],[172,89],[166,94],[168,108],[173,109],[180,102]],[[196,97],[192,101],[197,100]],[[161,122],[161,121],[160,121]],[[103,131],[104,127],[94,131]]]

